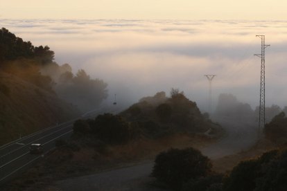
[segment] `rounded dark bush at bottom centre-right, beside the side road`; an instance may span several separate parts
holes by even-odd
[[[152,175],[174,190],[191,179],[199,179],[211,172],[211,161],[193,148],[169,149],[155,158]]]

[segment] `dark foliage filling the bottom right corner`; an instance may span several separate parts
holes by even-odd
[[[274,150],[239,163],[227,177],[224,190],[287,190],[287,152]]]

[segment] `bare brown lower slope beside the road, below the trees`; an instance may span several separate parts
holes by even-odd
[[[0,145],[79,115],[54,93],[0,72]]]

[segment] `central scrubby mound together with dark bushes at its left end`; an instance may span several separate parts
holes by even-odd
[[[172,89],[171,98],[164,92],[142,98],[119,115],[105,113],[95,119],[77,120],[73,124],[72,140],[83,147],[100,149],[108,145],[123,145],[137,140],[158,140],[176,134],[212,136],[223,131],[203,116],[195,102],[183,92]],[[81,147],[82,147],[81,146]]]

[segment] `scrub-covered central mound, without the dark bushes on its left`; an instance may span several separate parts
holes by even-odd
[[[171,89],[170,98],[163,91],[142,98],[120,115],[151,138],[174,132],[204,133],[211,129],[216,134],[220,131],[220,126],[202,115],[196,103],[178,89]]]

